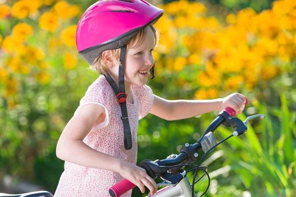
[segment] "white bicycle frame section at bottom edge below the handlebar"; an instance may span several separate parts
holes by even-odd
[[[191,197],[192,188],[188,177],[185,176],[175,187],[167,186],[158,190],[152,197]],[[149,197],[148,195],[147,197]],[[195,195],[194,195],[195,197]]]

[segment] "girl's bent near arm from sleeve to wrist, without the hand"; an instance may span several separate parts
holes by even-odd
[[[117,158],[98,152],[82,141],[92,126],[103,122],[105,117],[103,106],[97,104],[83,106],[66,125],[57,144],[57,157],[90,168],[112,171],[118,169],[119,160]],[[99,121],[97,121],[98,118]]]

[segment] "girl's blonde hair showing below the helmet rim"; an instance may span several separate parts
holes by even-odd
[[[155,28],[152,25],[148,25],[146,28],[142,29],[135,37],[133,37],[127,44],[126,44],[126,50],[129,50],[130,48],[136,48],[140,46],[144,40],[145,40],[145,35],[148,31],[148,28],[151,28],[154,33],[154,47],[157,46],[158,41],[159,41],[159,30]],[[136,43],[137,41],[137,43]],[[112,64],[119,64],[121,66],[121,63],[119,61],[120,58],[120,51],[121,49],[113,49],[111,50],[111,53],[109,56],[111,56],[111,59],[113,59]],[[104,52],[103,52],[104,53]],[[90,70],[95,70],[98,71],[100,74],[108,74],[108,65],[106,64],[104,58],[103,58],[103,53],[101,53],[93,62],[92,65],[90,65],[89,69]]]

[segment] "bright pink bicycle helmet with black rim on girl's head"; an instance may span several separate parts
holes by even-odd
[[[99,0],[85,11],[78,22],[78,53],[92,65],[102,52],[124,46],[162,15],[162,9],[145,0]]]

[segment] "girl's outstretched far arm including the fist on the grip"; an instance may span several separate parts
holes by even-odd
[[[169,101],[153,95],[153,105],[149,113],[166,120],[179,120],[203,113],[221,111],[226,107],[236,113],[244,110],[246,99],[242,94],[233,93],[222,99],[214,100],[173,100]]]

